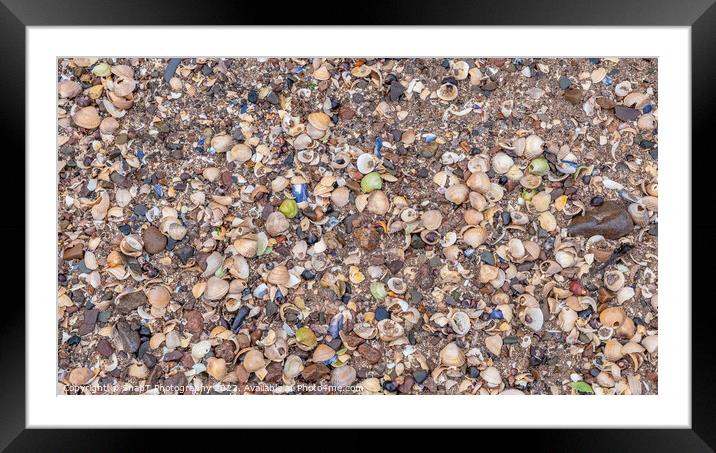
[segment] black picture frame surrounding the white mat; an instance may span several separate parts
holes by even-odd
[[[344,9],[345,6],[345,9]],[[533,25],[533,26],[580,26],[580,25],[629,25],[629,26],[690,26],[691,27],[691,82],[692,82],[692,148],[703,152],[691,153],[690,150],[664,150],[679,153],[692,158],[692,179],[684,181],[691,184],[692,190],[692,244],[698,252],[692,255],[692,263],[668,263],[669,266],[692,266],[691,289],[684,288],[684,297],[680,301],[664,303],[687,304],[693,300],[692,311],[692,418],[691,429],[611,429],[611,430],[522,430],[520,433],[496,433],[497,439],[509,439],[509,448],[529,446],[531,450],[547,451],[714,451],[716,450],[716,392],[711,381],[716,369],[713,359],[715,346],[711,334],[716,305],[704,291],[708,288],[708,274],[712,266],[708,265],[714,256],[711,234],[716,233],[714,217],[701,215],[697,208],[709,206],[709,194],[713,191],[709,177],[714,167],[709,153],[713,153],[714,74],[716,74],[716,6],[714,0],[679,2],[674,0],[558,0],[538,1],[444,1],[430,0],[421,2],[378,2],[362,1],[356,14],[349,13],[350,5],[331,3],[296,3],[269,8],[263,2],[224,2],[206,4],[188,1],[139,1],[139,0],[78,0],[78,1],[28,1],[0,0],[0,49],[3,62],[0,69],[0,87],[3,87],[2,106],[6,134],[4,134],[2,154],[3,182],[6,190],[14,193],[16,206],[12,215],[3,216],[0,230],[6,237],[25,237],[24,225],[26,206],[24,196],[24,168],[32,171],[32,162],[25,150],[25,94],[32,89],[25,83],[25,29],[28,26],[62,25],[259,25],[264,22],[281,24],[290,20],[292,24],[317,24],[320,20],[332,25]],[[283,9],[283,8],[290,8]],[[357,13],[357,11],[360,11]],[[342,11],[342,12],[339,12]],[[328,17],[330,13],[336,17]],[[332,29],[330,33],[339,33]],[[648,29],[644,29],[648,39]],[[157,35],[161,38],[161,33]],[[7,162],[15,159],[15,162]],[[702,160],[703,159],[703,160]],[[695,165],[697,163],[699,165]],[[703,164],[706,165],[703,165]],[[10,165],[12,165],[10,167]],[[12,169],[12,170],[11,170]],[[701,174],[699,174],[701,172]],[[24,195],[24,193],[23,193]],[[705,197],[704,197],[705,195]],[[704,197],[703,204],[696,201]],[[686,234],[687,232],[684,232]],[[14,242],[18,250],[12,254],[12,266],[17,269],[18,261],[24,263],[24,246]],[[668,242],[668,241],[667,241]],[[24,244],[23,244],[24,245]],[[668,245],[666,245],[668,246]],[[5,255],[6,258],[10,255]],[[697,259],[706,257],[703,263]],[[8,258],[10,259],[10,258]],[[6,261],[9,264],[9,261]],[[706,266],[706,265],[708,266]],[[24,268],[24,266],[22,266]],[[17,271],[15,271],[17,272]],[[6,274],[12,276],[13,274]],[[14,277],[11,277],[14,278]],[[32,284],[32,270],[27,269],[25,285]],[[20,285],[17,285],[20,287]],[[691,293],[691,294],[690,294]],[[138,443],[140,434],[131,430],[29,430],[25,429],[25,325],[32,322],[25,317],[24,291],[19,290],[13,297],[6,296],[0,308],[0,372],[2,409],[0,410],[0,448],[7,451],[129,451],[141,445],[148,449],[145,439],[159,441],[164,449],[182,446],[185,436],[166,436],[145,432],[144,439]],[[690,297],[691,296],[691,297]],[[685,351],[688,353],[688,351]],[[665,408],[665,410],[667,410]],[[538,414],[537,414],[538,415]],[[590,417],[603,417],[608,414],[577,414],[589,423]],[[71,417],[72,414],[67,414]],[[638,421],[639,414],[634,414]],[[509,421],[505,421],[509,425]],[[193,437],[193,436],[192,436]],[[199,436],[197,436],[199,437]],[[232,436],[222,434],[221,442],[230,447],[236,445]],[[293,435],[286,436],[289,440]],[[480,433],[481,439],[493,438],[492,434]],[[422,439],[422,436],[415,439]],[[493,439],[494,441],[495,439]],[[505,441],[507,442],[507,441]],[[498,441],[502,445],[502,441]],[[482,445],[480,441],[479,445]]]

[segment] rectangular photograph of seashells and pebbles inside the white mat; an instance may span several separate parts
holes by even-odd
[[[657,394],[657,66],[59,58],[58,394]]]

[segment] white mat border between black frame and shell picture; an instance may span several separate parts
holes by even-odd
[[[27,28],[29,428],[346,424],[690,427],[691,301],[690,291],[685,291],[690,287],[691,263],[690,28],[110,28]],[[659,395],[531,396],[519,400],[474,396],[56,396],[55,59],[65,55],[658,56],[659,229],[665,244],[659,259]],[[141,410],[140,405],[144,406]],[[306,411],[302,411],[303,417],[296,416],[299,405]],[[336,415],[336,408],[344,408],[339,410],[342,415]]]

